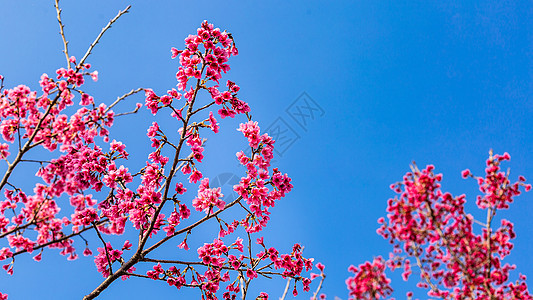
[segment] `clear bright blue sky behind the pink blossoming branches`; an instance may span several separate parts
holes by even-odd
[[[7,87],[36,88],[42,73],[65,65],[52,2],[0,0],[0,74]],[[294,242],[303,244],[306,256],[326,265],[323,292],[331,298],[347,299],[350,264],[390,250],[375,233],[376,220],[394,196],[389,185],[401,180],[412,161],[434,164],[444,174],[443,189],[466,193],[474,214],[477,185],[460,172],[482,174],[489,149],[511,154],[513,178],[533,180],[530,1],[65,1],[71,55],[81,57],[127,4],[131,13],[89,59],[100,80],[86,89],[106,103],[137,87],[164,92],[176,84],[171,47],[183,47],[204,19],[232,32],[240,54],[230,61],[227,78],[241,86],[240,96],[262,128],[279,125],[293,141],[276,159],[295,188],[273,210],[265,241],[286,251]],[[305,100],[317,110],[300,126],[303,121],[288,111]],[[128,101],[117,110],[144,102]],[[127,162],[132,166],[144,164],[145,130],[152,120],[144,110],[118,120],[112,132],[132,155],[138,153]],[[237,125],[221,122],[221,136],[209,139],[211,158],[203,166],[208,176],[242,173],[234,160],[244,146]],[[533,194],[522,195],[499,215],[515,223],[518,238],[508,261],[529,276],[529,284],[532,201]],[[204,230],[205,241],[212,241]],[[172,247],[165,251],[176,251]],[[41,299],[81,298],[102,279],[92,259],[67,262],[53,251],[41,263],[17,259],[15,275],[7,277],[0,274],[0,291],[10,299],[36,293]],[[399,274],[392,278],[402,299],[404,284]],[[283,281],[272,281],[258,289],[277,299],[283,287]],[[101,299],[154,293],[189,295],[130,280],[116,282]]]

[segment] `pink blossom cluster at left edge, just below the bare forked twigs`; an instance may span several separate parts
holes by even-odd
[[[81,69],[88,69],[83,65]],[[34,145],[50,151],[59,145],[71,145],[81,141],[91,141],[95,136],[106,137],[114,120],[113,111],[104,104],[93,108],[82,107],[70,118],[62,112],[74,103],[74,93],[80,93],[86,105],[92,97],[81,92],[84,75],[74,69],[59,69],[57,80],[48,75],[41,76],[42,94],[19,85],[0,94],[0,131],[4,140],[13,142],[15,135],[30,140]],[[28,144],[28,147],[31,144]]]

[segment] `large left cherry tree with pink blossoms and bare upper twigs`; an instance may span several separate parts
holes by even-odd
[[[287,174],[270,165],[275,141],[253,121],[250,106],[238,96],[240,87],[223,79],[229,60],[238,54],[233,36],[205,21],[185,39],[184,47],[171,49],[172,58],[179,62],[177,89],[169,87],[165,93],[138,88],[113,103],[98,103],[84,89],[85,80],[98,79],[87,61],[104,33],[130,6],[102,29],[81,59],[68,51],[58,0],[55,8],[66,67],[54,76],[43,74],[36,91],[25,85],[4,88],[0,77],[4,140],[0,153],[6,166],[0,181],[5,196],[0,201],[3,269],[13,274],[20,255],[31,254],[35,261],[54,251],[68,260],[78,259],[80,252],[94,256],[103,280],[84,299],[94,299],[117,279],[131,277],[161,281],[177,290],[197,289],[202,299],[220,295],[268,299],[264,292],[249,295],[249,287],[257,278],[276,276],[286,278],[287,285],[294,283],[295,295],[298,290],[309,291],[311,279],[305,272],[313,268],[313,259],[303,257],[303,247],[294,244],[285,254],[259,235],[269,222],[271,208],[293,186]],[[113,110],[140,92],[145,95],[144,105],[138,103],[129,112]],[[180,128],[175,132],[153,122],[146,132],[152,151],[144,167],[131,170],[127,160],[136,154],[111,140],[110,130],[116,118],[143,106],[154,116],[171,115]],[[201,164],[205,132],[219,132],[219,117],[243,120],[237,130],[251,153],[237,153],[245,171],[233,187],[238,196],[228,202],[221,187],[204,177],[207,167]],[[52,158],[28,159],[38,148],[49,151]],[[25,178],[25,185],[31,180],[33,186],[27,190],[12,174],[20,168],[28,172],[31,164],[38,168],[35,177]],[[186,195],[194,197],[192,202]],[[65,213],[67,206],[72,214]],[[230,209],[231,217],[225,213]],[[155,256],[154,251],[164,244],[189,250],[189,236],[208,222],[218,224],[218,236],[195,249],[195,260],[179,260],[179,253]],[[123,236],[126,231],[136,231],[138,239],[110,242],[109,236]],[[97,236],[100,244],[89,244],[84,238],[89,234]],[[140,265],[151,270],[137,272]],[[7,295],[0,294],[0,299]]]

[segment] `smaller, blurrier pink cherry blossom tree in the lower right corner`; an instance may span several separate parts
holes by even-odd
[[[385,260],[375,258],[358,267],[351,266],[353,277],[346,280],[350,299],[384,299],[392,294],[391,281],[385,270],[402,269],[408,280],[419,274],[417,287],[426,289],[432,299],[533,299],[526,277],[511,280],[514,265],[503,260],[513,249],[516,234],[513,223],[496,214],[508,209],[520,188],[531,190],[526,179],[509,179],[501,170],[510,155],[493,155],[486,162],[485,176],[469,170],[464,178],[474,178],[481,195],[476,205],[486,211],[481,222],[465,211],[466,196],[453,196],[441,190],[441,174],[429,165],[420,170],[413,166],[402,182],[391,189],[398,194],[390,199],[387,218],[380,218],[378,234],[389,240],[394,250]],[[413,271],[412,265],[415,265]],[[413,296],[412,292],[407,298]]]

